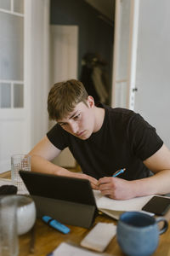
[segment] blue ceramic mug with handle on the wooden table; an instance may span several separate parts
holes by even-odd
[[[161,230],[158,223],[163,222]],[[117,224],[116,239],[123,253],[129,256],[149,256],[156,251],[159,235],[168,227],[165,218],[154,218],[144,212],[124,212]]]

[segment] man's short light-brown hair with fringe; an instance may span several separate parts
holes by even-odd
[[[54,84],[48,94],[49,119],[63,119],[71,113],[79,102],[87,105],[88,93],[83,84],[71,79]]]

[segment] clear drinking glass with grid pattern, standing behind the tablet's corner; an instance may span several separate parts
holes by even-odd
[[[19,171],[31,171],[31,155],[14,154],[11,156],[11,177],[12,182],[18,188],[19,194],[26,194],[27,189],[25,183],[20,177]]]

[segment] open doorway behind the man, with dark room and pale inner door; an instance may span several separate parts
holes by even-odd
[[[90,2],[93,6],[89,4]],[[97,93],[102,95],[105,90],[103,102],[110,105],[114,22],[99,11],[99,3],[110,3],[110,17],[111,15],[114,17],[115,3],[114,0],[90,2],[85,0],[51,0],[50,2],[51,85],[62,80],[79,79],[86,87],[86,80],[82,78],[86,64],[89,72],[85,73],[85,77],[88,78],[88,84],[93,85],[91,76],[97,65],[102,70],[102,76],[97,74],[97,85],[99,85]],[[96,63],[96,59],[99,63]],[[95,66],[91,66],[93,64]],[[101,100],[103,97],[99,97],[99,101]],[[52,125],[54,122],[50,123],[50,127]],[[64,167],[76,165],[68,149],[65,149],[54,163]]]

